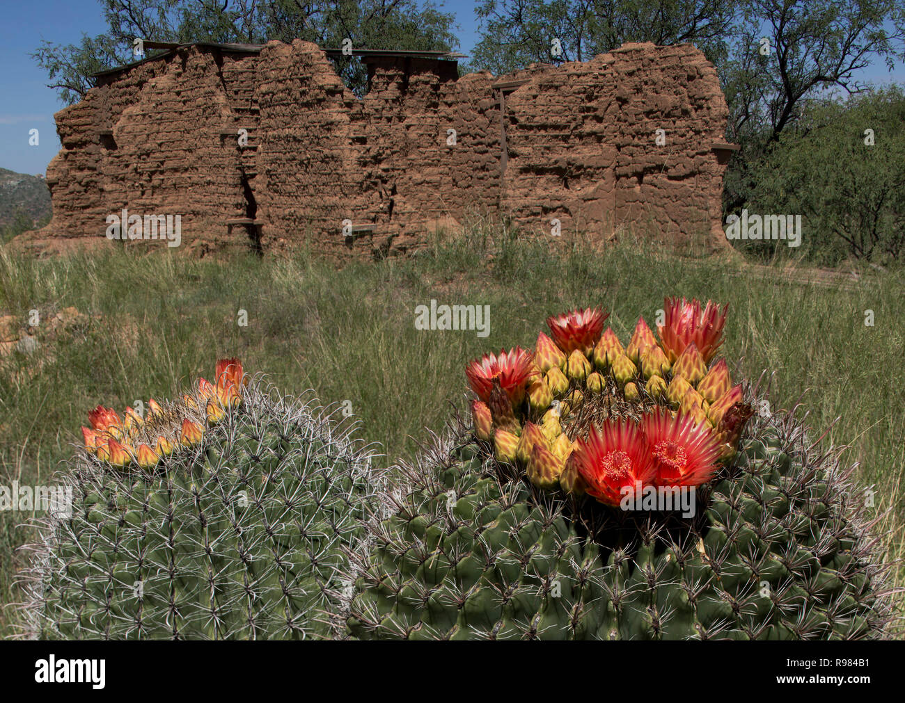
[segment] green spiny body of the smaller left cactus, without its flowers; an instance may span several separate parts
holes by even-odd
[[[77,455],[71,518],[32,571],[42,638],[330,636],[338,567],[376,473],[322,412],[252,383],[243,404],[140,472]]]

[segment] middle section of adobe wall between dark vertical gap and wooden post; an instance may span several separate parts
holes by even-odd
[[[498,208],[490,74],[457,80],[453,61],[381,57],[368,75],[359,100],[315,44],[262,49],[255,194],[264,248],[307,235],[338,253],[405,251],[457,227],[466,208]],[[373,228],[348,236],[343,220]]]

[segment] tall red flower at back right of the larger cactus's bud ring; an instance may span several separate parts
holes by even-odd
[[[729,304],[719,305],[708,300],[704,310],[700,309],[700,301],[682,298],[666,298],[665,317],[662,324],[657,325],[663,350],[670,363],[679,358],[691,342],[698,346],[704,357],[704,363],[710,363],[717,348],[723,343],[723,327],[726,325],[726,311]]]

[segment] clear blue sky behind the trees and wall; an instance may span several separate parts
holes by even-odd
[[[478,23],[472,0],[438,2],[455,14],[460,51],[470,53],[478,41]],[[105,32],[106,24],[96,0],[5,0],[0,11],[0,167],[20,173],[43,173],[60,149],[53,113],[62,108],[56,91],[46,87],[46,74],[29,53],[47,40],[75,44],[81,34]],[[885,66],[872,66],[862,80],[905,83],[905,69],[890,74]],[[29,131],[38,130],[39,144],[29,145]]]

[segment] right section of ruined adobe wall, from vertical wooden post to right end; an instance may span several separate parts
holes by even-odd
[[[506,98],[503,207],[547,232],[553,218],[564,231],[633,223],[722,246],[725,166],[712,146],[728,117],[716,70],[691,44],[626,44],[535,74]]]

